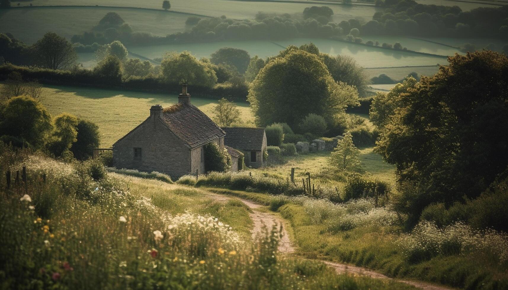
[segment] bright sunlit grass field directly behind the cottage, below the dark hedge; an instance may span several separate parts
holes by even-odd
[[[150,106],[169,107],[178,102],[178,96],[163,93],[143,93],[71,86],[45,88],[43,104],[55,116],[71,113],[99,125],[101,146],[110,147],[150,115]],[[189,87],[192,94],[192,87]],[[191,98],[192,104],[212,116],[215,100]],[[252,121],[248,103],[238,102],[244,122]]]

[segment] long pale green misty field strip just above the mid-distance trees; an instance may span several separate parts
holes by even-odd
[[[398,67],[398,66],[427,66],[436,63],[446,64],[446,58],[418,55],[402,51],[388,51],[384,49],[366,47],[352,43],[317,38],[297,38],[291,40],[271,41],[224,41],[212,43],[188,43],[175,45],[129,46],[129,51],[149,58],[161,57],[165,51],[188,50],[199,57],[209,57],[210,54],[221,47],[234,47],[247,50],[251,56],[267,57],[276,55],[289,45],[302,45],[314,43],[321,52],[332,55],[351,55],[357,62],[366,68]],[[409,73],[409,72],[408,72]]]

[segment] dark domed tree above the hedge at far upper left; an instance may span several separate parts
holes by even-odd
[[[40,66],[52,70],[69,69],[78,60],[78,54],[67,39],[48,32],[34,44],[34,57]]]

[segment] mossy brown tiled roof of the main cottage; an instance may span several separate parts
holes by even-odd
[[[196,148],[226,134],[196,106],[185,103],[165,108],[162,121],[190,148]]]

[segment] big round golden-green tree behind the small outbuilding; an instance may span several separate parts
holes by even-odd
[[[358,104],[355,87],[335,82],[323,61],[303,50],[277,57],[251,83],[248,101],[256,122],[294,126],[309,113],[333,116]]]

